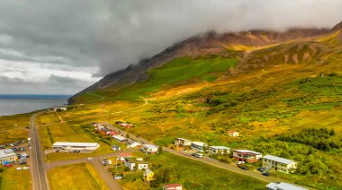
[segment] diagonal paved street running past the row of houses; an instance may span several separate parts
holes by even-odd
[[[121,129],[119,129],[118,127],[113,126],[111,124],[108,124],[108,123],[101,123],[101,124],[111,128],[114,131],[120,132],[121,135],[126,136],[128,134],[128,133],[122,131]],[[135,136],[133,134],[129,134],[129,135],[130,135],[130,139],[132,139],[132,140],[135,140],[135,141],[138,141],[138,142],[143,142],[143,143],[153,144],[152,142],[148,142],[147,140],[142,139],[140,137],[137,137],[137,136]],[[254,178],[257,178],[259,180],[266,181],[266,182],[280,182],[280,181],[282,181],[282,182],[287,182],[287,183],[293,183],[293,182],[290,182],[290,181],[287,181],[287,180],[284,180],[284,179],[281,179],[281,178],[277,178],[277,177],[266,177],[266,176],[263,176],[258,171],[243,170],[243,169],[238,168],[238,167],[236,167],[234,165],[227,164],[227,163],[224,163],[224,162],[220,162],[218,160],[213,160],[213,159],[210,159],[210,158],[195,158],[195,157],[191,156],[189,153],[185,153],[184,151],[175,151],[173,149],[169,149],[169,148],[166,148],[166,147],[163,147],[163,150],[164,151],[168,151],[168,152],[173,153],[173,154],[176,154],[178,156],[185,157],[187,159],[202,161],[202,162],[204,162],[206,164],[209,164],[209,165],[217,167],[217,168],[224,168],[226,170],[229,170],[229,171],[241,174],[241,175],[245,175],[245,176],[248,176],[248,177],[254,177]],[[312,188],[307,187],[307,186],[305,186],[305,187],[308,188],[308,189],[312,189]]]

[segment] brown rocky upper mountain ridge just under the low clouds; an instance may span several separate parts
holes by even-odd
[[[250,51],[254,51],[262,47],[281,46],[284,43],[296,41],[306,41],[307,43],[310,43],[314,39],[329,36],[332,33],[337,32],[341,27],[340,24],[341,22],[331,30],[296,28],[285,31],[248,30],[222,34],[218,34],[213,31],[207,32],[176,43],[173,46],[166,48],[156,56],[139,61],[139,64],[137,65],[130,65],[125,69],[107,74],[99,82],[95,82],[84,91],[80,91],[70,98],[69,103],[76,102],[75,99],[86,92],[102,91],[110,88],[119,90],[123,86],[130,86],[136,82],[146,81],[148,79],[148,71],[150,69],[165,65],[179,57],[196,58],[205,55],[237,57],[239,60],[239,64],[237,66],[238,72],[247,71],[251,67],[260,67],[256,65],[257,59],[253,62],[254,66],[249,64],[251,60],[250,57],[253,56],[253,54],[252,56],[249,55]],[[310,49],[313,49],[314,47],[312,44],[309,46]],[[317,53],[317,49],[313,51],[316,51],[313,52],[313,54]],[[311,53],[302,55],[305,57],[300,57],[300,59],[311,60]],[[264,56],[263,59],[264,61],[268,61],[266,56]],[[262,62],[263,59],[260,59],[258,62]],[[299,62],[297,56],[285,56],[284,59],[287,60],[286,62],[290,60],[289,63],[298,64]]]

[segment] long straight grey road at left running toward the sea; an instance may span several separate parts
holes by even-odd
[[[40,113],[36,113],[30,118],[30,136],[31,136],[31,176],[33,190],[49,189],[46,175],[46,168],[41,157],[40,140],[38,130],[35,125],[35,119]]]

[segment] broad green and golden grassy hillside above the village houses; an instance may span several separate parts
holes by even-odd
[[[289,175],[272,171],[273,176],[340,189],[341,39],[338,31],[317,39],[238,48],[234,57],[176,58],[149,70],[145,81],[81,96],[92,103],[63,117],[130,121],[136,127],[125,130],[164,146],[184,137],[281,156],[298,161],[299,168]],[[147,105],[140,96],[148,99]],[[142,106],[131,109],[128,104]],[[229,137],[229,130],[239,136]]]

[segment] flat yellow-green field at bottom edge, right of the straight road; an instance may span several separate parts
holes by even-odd
[[[90,163],[51,168],[51,189],[109,189]]]

